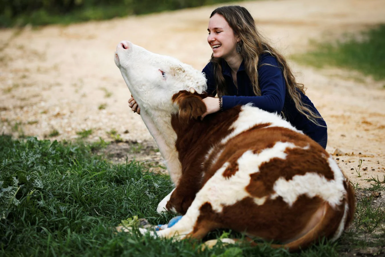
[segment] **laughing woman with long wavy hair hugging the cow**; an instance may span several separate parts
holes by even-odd
[[[303,84],[295,81],[283,55],[271,47],[256,30],[254,19],[244,7],[216,8],[210,15],[208,43],[213,50],[203,72],[207,93],[204,116],[253,103],[269,112],[281,113],[297,129],[323,148],[327,143],[326,123],[305,96]],[[129,99],[132,111],[138,111]]]

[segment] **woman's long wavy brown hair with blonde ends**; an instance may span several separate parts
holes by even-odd
[[[316,119],[321,118],[318,114],[311,111],[307,104],[301,101],[300,92],[305,94],[305,87],[301,83],[295,81],[295,77],[290,67],[288,66],[285,57],[280,54],[274,47],[272,47],[268,40],[261,35],[255,27],[255,22],[249,11],[239,5],[229,5],[216,8],[210,15],[219,14],[225,18],[234,34],[239,35],[241,41],[241,56],[244,60],[246,73],[253,85],[253,91],[256,96],[261,96],[261,89],[258,81],[258,60],[259,55],[269,53],[276,57],[278,63],[282,67],[283,77],[285,78],[286,88],[288,93],[295,103],[296,109],[306,116],[313,123],[320,125]],[[227,95],[227,87],[224,77],[222,75],[222,59],[211,55],[211,62],[214,64],[214,77],[217,84],[218,95]],[[269,64],[265,64],[269,65]]]

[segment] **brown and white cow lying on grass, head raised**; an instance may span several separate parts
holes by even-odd
[[[150,233],[202,239],[230,228],[290,250],[340,237],[353,218],[354,192],[319,144],[250,104],[201,121],[204,74],[172,57],[122,41],[115,63],[176,186],[158,211],[183,214]]]

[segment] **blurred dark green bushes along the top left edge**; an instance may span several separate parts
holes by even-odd
[[[0,27],[69,24],[233,0],[0,0]]]

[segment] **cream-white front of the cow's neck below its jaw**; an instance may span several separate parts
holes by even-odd
[[[182,174],[182,166],[175,147],[176,133],[171,126],[171,115],[162,111],[152,111],[151,114],[141,111],[141,117],[166,160],[172,182],[177,185]]]

